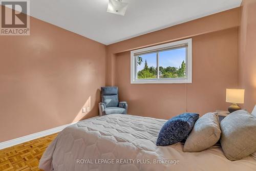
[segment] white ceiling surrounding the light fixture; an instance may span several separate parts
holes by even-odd
[[[125,16],[107,13],[108,0],[30,0],[30,15],[109,45],[239,7],[242,0],[123,0]]]

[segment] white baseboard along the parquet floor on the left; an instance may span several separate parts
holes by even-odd
[[[92,118],[96,118],[96,117],[98,117],[98,116],[95,116],[95,117],[92,117]],[[89,119],[92,119],[92,118],[89,118]],[[88,120],[88,119],[86,119],[86,120]],[[81,120],[81,121],[83,121],[83,120]],[[81,122],[81,121],[78,121],[78,122]],[[19,138],[15,138],[15,139],[12,139],[12,140],[1,142],[0,143],[0,149],[8,148],[10,146],[14,146],[14,145],[21,144],[21,143],[24,143],[24,142],[27,142],[27,141],[31,141],[31,140],[34,140],[34,139],[37,139],[37,138],[40,138],[40,137],[44,137],[44,136],[48,136],[48,135],[60,132],[60,131],[64,130],[66,127],[68,127],[70,125],[73,125],[73,124],[76,124],[78,122],[69,123],[69,124],[66,124],[66,125],[54,127],[53,129],[49,129],[49,130],[41,131],[41,132],[38,132],[38,133],[30,134],[30,135],[27,135],[27,136],[24,136],[24,137],[19,137]]]

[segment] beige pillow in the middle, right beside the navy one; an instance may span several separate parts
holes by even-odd
[[[215,145],[221,137],[217,113],[207,113],[200,117],[188,135],[184,152],[200,152]]]

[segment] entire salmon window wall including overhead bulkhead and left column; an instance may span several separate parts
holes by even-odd
[[[226,110],[226,88],[238,87],[240,8],[107,46],[107,84],[119,87],[128,113],[168,119],[182,112]],[[131,84],[130,51],[193,38],[193,83]]]

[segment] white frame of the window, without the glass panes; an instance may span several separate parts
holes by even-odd
[[[186,53],[186,78],[154,78],[154,79],[137,79],[137,56],[138,53],[158,51],[159,49],[171,49],[179,46],[187,45]],[[157,66],[158,66],[157,56]],[[158,67],[157,67],[158,70]],[[158,76],[157,76],[158,77]],[[143,48],[131,51],[131,84],[144,84],[144,83],[192,83],[192,39],[185,39],[168,44]]]

